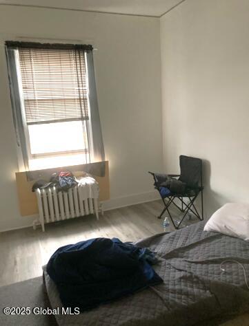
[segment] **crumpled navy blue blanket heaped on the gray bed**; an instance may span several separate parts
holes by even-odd
[[[82,312],[161,283],[150,266],[153,258],[148,249],[97,238],[59,248],[48,261],[47,272],[64,307],[79,307]]]

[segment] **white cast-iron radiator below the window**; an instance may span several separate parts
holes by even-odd
[[[99,219],[99,188],[97,182],[81,182],[70,188],[68,193],[59,191],[55,186],[36,190],[39,219],[34,221],[45,230],[45,224],[72,219],[83,215],[95,214]]]

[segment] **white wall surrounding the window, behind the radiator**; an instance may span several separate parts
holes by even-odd
[[[20,217],[17,155],[4,41],[20,36],[82,40],[97,47],[94,64],[106,158],[108,207],[155,196],[148,170],[160,170],[161,63],[159,19],[0,6],[0,230],[30,225]],[[73,42],[73,41],[72,41]]]

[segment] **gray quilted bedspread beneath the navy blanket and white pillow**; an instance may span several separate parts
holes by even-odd
[[[83,312],[57,315],[62,325],[208,325],[212,318],[239,314],[249,310],[249,290],[243,269],[237,263],[220,263],[227,259],[243,263],[249,277],[249,242],[215,232],[204,232],[203,222],[168,234],[144,239],[138,246],[157,252],[154,265],[163,283]],[[48,298],[52,308],[61,307],[53,281],[44,271]],[[212,323],[215,325],[215,323]]]

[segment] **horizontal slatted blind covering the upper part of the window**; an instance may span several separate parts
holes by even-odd
[[[85,51],[19,47],[27,124],[88,120]]]

